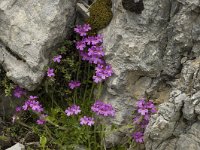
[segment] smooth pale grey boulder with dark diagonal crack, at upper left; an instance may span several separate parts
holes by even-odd
[[[75,3],[74,0],[0,1],[0,64],[11,80],[28,90],[40,83],[49,51],[71,29]]]

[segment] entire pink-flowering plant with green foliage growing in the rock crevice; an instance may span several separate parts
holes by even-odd
[[[16,107],[12,122],[38,135],[43,149],[105,148],[104,118],[114,118],[117,112],[99,98],[102,82],[114,72],[104,59],[103,36],[90,35],[90,30],[89,24],[77,25],[77,36],[52,53],[41,87],[34,92],[14,87],[13,96],[25,101]],[[132,135],[137,143],[144,142],[143,132],[155,112],[153,101],[137,102],[134,124],[138,128]]]

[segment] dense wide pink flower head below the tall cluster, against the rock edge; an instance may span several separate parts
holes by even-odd
[[[114,116],[115,115],[115,110],[112,107],[111,104],[106,104],[100,100],[96,101],[92,107],[91,110],[95,112],[97,115],[102,115],[102,116]]]

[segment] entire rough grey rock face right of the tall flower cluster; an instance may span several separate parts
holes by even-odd
[[[102,99],[116,108],[111,121],[118,125],[132,123],[136,99],[162,103],[146,129],[147,150],[200,149],[194,133],[200,125],[200,2],[143,2],[138,15],[113,1],[113,20],[102,33],[115,74]]]

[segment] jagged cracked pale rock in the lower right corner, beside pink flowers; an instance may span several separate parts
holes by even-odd
[[[200,112],[199,69],[200,57],[188,60],[183,64],[181,76],[177,79],[176,86],[174,87],[174,89],[180,89],[179,92],[176,92],[179,94],[177,96],[172,92],[169,102],[161,104],[158,114],[151,118],[145,132],[146,149],[165,150],[166,143],[171,145],[171,138],[177,141],[175,147],[178,150],[196,150],[200,148],[198,133],[200,126],[198,121]],[[163,105],[165,106],[163,107]],[[170,111],[163,111],[166,109]],[[166,128],[159,130],[159,124],[163,122],[160,120],[160,117],[163,116],[165,116],[165,122],[169,124],[174,123],[170,127],[171,132],[167,131]],[[172,116],[174,119],[169,120]],[[157,135],[156,137],[153,136],[155,134]]]

